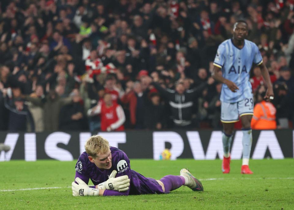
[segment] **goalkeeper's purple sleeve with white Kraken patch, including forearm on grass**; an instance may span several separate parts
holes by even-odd
[[[130,167],[130,159],[123,151],[119,151],[116,153],[115,161],[113,162],[115,168],[117,170],[117,174],[115,177],[120,177],[127,175],[131,181],[131,167]],[[129,195],[130,188],[125,192],[118,192],[115,190],[108,190],[106,189],[103,193],[103,196],[126,196]]]

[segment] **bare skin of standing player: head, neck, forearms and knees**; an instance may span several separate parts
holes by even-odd
[[[233,29],[233,38],[232,38],[233,44],[237,48],[242,49],[245,43],[244,39],[246,38],[247,35],[248,35],[247,24],[243,22],[236,22]],[[267,84],[266,95],[264,98],[266,99],[266,101],[269,101],[269,97],[273,97],[273,86],[272,86],[272,83],[270,82],[269,71],[267,70],[264,63],[260,64],[259,67],[262,72],[262,76]],[[221,71],[221,68],[214,66],[212,77],[215,80],[226,84],[232,92],[237,92],[239,90],[238,86],[234,82],[228,79],[225,79],[221,74],[219,74],[219,71]],[[251,128],[252,115],[243,115],[240,117],[240,119],[242,123],[242,128],[244,129]],[[222,123],[222,124],[224,127],[224,133],[227,135],[232,135],[235,123]]]

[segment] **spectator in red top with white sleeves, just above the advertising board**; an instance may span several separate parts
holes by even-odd
[[[105,93],[103,102],[88,110],[88,116],[101,114],[101,131],[123,131],[126,120],[121,105],[112,101],[111,94]]]

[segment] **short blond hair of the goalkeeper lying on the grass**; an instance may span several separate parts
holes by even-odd
[[[97,154],[103,154],[109,149],[109,142],[102,136],[91,136],[85,143],[85,150],[89,156],[96,158]]]

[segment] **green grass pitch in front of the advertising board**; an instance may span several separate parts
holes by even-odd
[[[0,162],[0,209],[294,209],[294,159],[251,160],[252,175],[221,173],[221,160],[153,161],[132,159],[131,168],[156,179],[187,167],[202,180],[204,192],[180,187],[169,194],[127,197],[73,197],[76,162]],[[92,185],[92,182],[89,182]],[[4,189],[64,187],[3,192]]]

